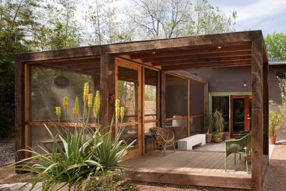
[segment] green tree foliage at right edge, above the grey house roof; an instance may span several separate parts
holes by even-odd
[[[267,48],[269,60],[286,60],[286,34],[282,32],[267,34],[265,37],[265,46]]]

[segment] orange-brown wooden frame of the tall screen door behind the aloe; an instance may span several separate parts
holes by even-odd
[[[130,123],[126,123],[125,125],[128,125],[128,124],[132,124],[132,125],[138,125],[138,137],[137,137],[137,141],[138,141],[138,148],[137,149],[134,149],[134,150],[130,150],[128,151],[128,153],[123,157],[123,159],[121,161],[125,161],[125,160],[128,160],[128,159],[132,159],[134,157],[138,157],[138,156],[141,156],[143,154],[143,125],[142,125],[142,110],[141,110],[141,107],[142,107],[142,66],[138,66],[134,63],[132,63],[131,61],[125,61],[123,59],[118,59],[116,58],[115,60],[115,74],[116,74],[116,77],[115,77],[115,97],[117,99],[118,97],[118,92],[117,92],[117,84],[118,84],[118,67],[123,67],[123,68],[129,68],[131,70],[136,70],[137,71],[137,74],[138,74],[138,90],[137,90],[137,115],[138,115],[138,119],[137,121],[135,122],[130,122]],[[117,133],[117,124],[115,125],[116,128],[115,128],[115,133]]]

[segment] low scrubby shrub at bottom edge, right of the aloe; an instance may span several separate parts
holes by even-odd
[[[100,177],[89,177],[81,184],[81,190],[83,191],[136,191],[139,188],[130,181],[127,181],[123,176],[123,173],[119,170],[114,172],[107,172]]]

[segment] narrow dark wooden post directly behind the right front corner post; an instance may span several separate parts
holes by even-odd
[[[263,63],[263,154],[269,154],[269,66]],[[269,157],[267,157],[267,164]]]

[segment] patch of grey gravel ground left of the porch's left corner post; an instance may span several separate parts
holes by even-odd
[[[0,166],[14,163],[14,139],[0,139]]]

